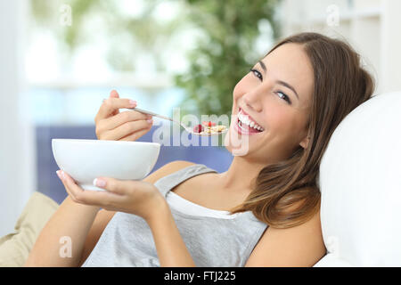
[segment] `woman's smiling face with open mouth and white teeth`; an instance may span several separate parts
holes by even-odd
[[[288,158],[299,145],[306,148],[313,90],[314,71],[302,45],[285,44],[275,49],[234,88],[233,117],[225,137],[227,150],[234,154],[241,143],[241,148],[247,144],[244,155],[264,163]],[[246,122],[241,127],[242,114],[262,131]]]

